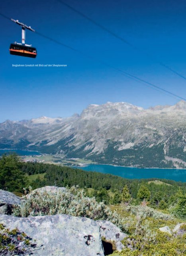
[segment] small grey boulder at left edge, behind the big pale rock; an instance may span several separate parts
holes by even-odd
[[[19,196],[0,189],[0,214],[11,214],[13,206],[20,204],[20,202]]]

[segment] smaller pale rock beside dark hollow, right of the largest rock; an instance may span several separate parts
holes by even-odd
[[[123,240],[123,238],[125,238],[127,235],[110,221],[97,220],[96,223],[100,227],[101,236],[104,237],[107,242],[114,241],[116,244],[116,249],[121,251],[124,247],[121,240]]]

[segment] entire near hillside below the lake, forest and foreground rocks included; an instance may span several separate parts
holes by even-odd
[[[0,159],[0,255],[184,256],[185,219],[183,182]]]

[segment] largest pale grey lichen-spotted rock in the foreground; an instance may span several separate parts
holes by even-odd
[[[39,256],[104,256],[100,230],[94,220],[58,214],[19,218],[0,215],[6,228],[18,228],[37,244]]]

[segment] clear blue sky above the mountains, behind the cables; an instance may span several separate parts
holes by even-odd
[[[186,2],[184,0],[64,0],[106,26],[134,50],[56,0],[6,0],[0,12],[63,42],[92,59],[27,31],[26,43],[37,58],[9,54],[21,42],[21,28],[0,16],[0,122],[39,116],[65,117],[89,104],[129,102],[148,108],[178,99],[153,90],[100,63],[106,62],[139,78],[186,97]],[[150,54],[148,57],[144,54]],[[61,67],[12,67],[12,64],[67,64]]]

